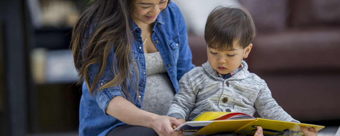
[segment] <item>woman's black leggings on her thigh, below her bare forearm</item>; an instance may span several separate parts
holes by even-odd
[[[158,134],[150,128],[124,125],[111,130],[106,136],[158,136]]]

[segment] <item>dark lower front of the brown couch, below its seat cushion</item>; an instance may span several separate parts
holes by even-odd
[[[278,105],[294,119],[303,123],[340,119],[340,73],[257,75],[266,81]]]

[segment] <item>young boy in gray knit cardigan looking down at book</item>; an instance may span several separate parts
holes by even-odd
[[[242,7],[216,7],[205,25],[208,62],[180,80],[168,116],[184,123],[203,111],[242,112],[300,123],[272,98],[264,80],[248,71],[255,25]],[[262,129],[256,135],[263,135]]]

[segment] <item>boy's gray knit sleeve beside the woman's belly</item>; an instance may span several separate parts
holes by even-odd
[[[180,90],[175,94],[175,97],[169,106],[167,116],[188,120],[190,111],[192,111],[195,106],[196,100],[196,94],[190,83],[188,73],[184,74],[179,85]]]

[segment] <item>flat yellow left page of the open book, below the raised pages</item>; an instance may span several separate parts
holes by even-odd
[[[235,130],[244,126],[244,124],[250,124],[254,121],[255,119],[215,120],[193,135],[211,135],[215,133],[231,134]]]

